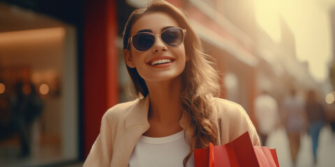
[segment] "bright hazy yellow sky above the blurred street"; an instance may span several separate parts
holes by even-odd
[[[295,37],[297,60],[308,61],[315,81],[325,81],[332,55],[329,9],[335,0],[255,0],[255,18],[275,41],[281,39],[281,18]]]

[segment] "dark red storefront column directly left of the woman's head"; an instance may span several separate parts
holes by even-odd
[[[84,155],[99,134],[103,113],[119,100],[117,11],[114,0],[87,0],[84,8]]]

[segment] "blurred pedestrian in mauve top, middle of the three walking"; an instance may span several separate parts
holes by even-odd
[[[283,122],[285,124],[293,165],[297,163],[297,155],[300,149],[301,132],[306,128],[306,115],[304,102],[297,97],[295,89],[283,100]]]

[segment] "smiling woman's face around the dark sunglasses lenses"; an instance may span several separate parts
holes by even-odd
[[[125,51],[128,67],[136,67],[140,76],[147,81],[168,81],[180,76],[186,64],[184,42],[177,47],[169,47],[158,34],[171,27],[179,27],[166,13],[148,13],[137,19],[131,27],[131,37],[139,32],[156,35],[154,45],[147,51],[137,51],[130,44],[131,52]]]

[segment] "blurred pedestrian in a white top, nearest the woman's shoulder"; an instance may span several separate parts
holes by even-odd
[[[255,99],[255,116],[258,122],[258,134],[262,145],[267,145],[267,136],[278,126],[278,103],[267,90]]]

